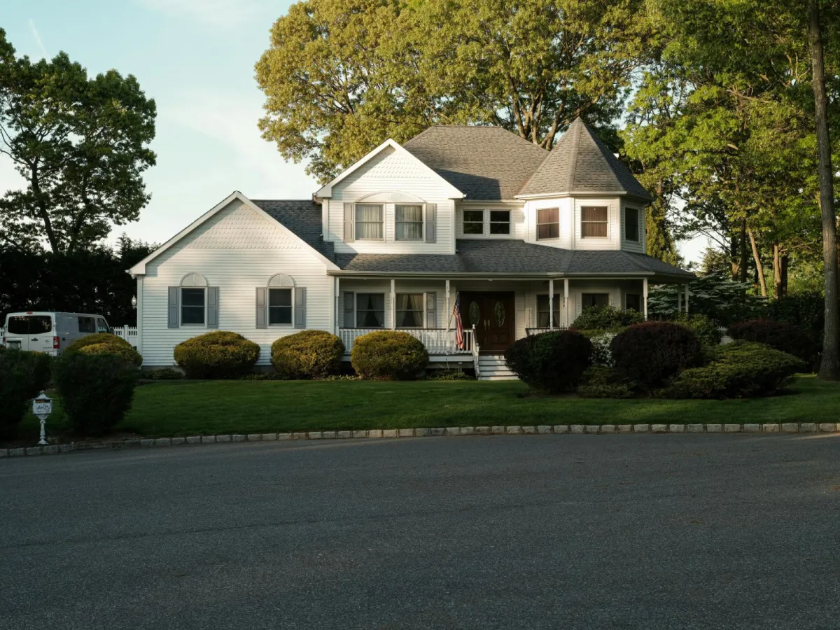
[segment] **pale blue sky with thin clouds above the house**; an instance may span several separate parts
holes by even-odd
[[[303,164],[282,160],[260,138],[263,94],[254,64],[289,0],[3,0],[0,26],[33,59],[60,50],[88,74],[137,76],[157,103],[157,165],[146,171],[150,204],[118,227],[162,243],[230,192],[254,199],[305,199],[318,189]],[[20,178],[0,156],[0,189]],[[698,260],[706,239],[683,245]]]

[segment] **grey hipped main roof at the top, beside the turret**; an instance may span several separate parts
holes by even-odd
[[[549,152],[501,127],[429,127],[406,150],[469,199],[513,199]]]

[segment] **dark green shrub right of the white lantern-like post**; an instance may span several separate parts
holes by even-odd
[[[55,387],[74,433],[107,433],[131,408],[139,370],[113,354],[62,354],[54,363]]]

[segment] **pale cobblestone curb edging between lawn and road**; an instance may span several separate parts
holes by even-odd
[[[192,435],[186,438],[123,439],[111,442],[49,444],[18,449],[0,449],[0,458],[54,455],[72,451],[224,444],[229,442],[276,442],[298,439],[433,438],[454,435],[522,435],[545,433],[840,433],[840,423],[776,424],[540,424],[538,426],[375,428],[354,431],[301,431],[296,433],[249,433],[242,435]]]

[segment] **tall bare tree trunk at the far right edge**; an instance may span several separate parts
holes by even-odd
[[[822,211],[822,261],[826,282],[826,327],[822,341],[822,364],[818,375],[823,381],[840,381],[840,359],[837,357],[837,226],[834,215],[834,186],[832,182],[832,148],[828,137],[828,98],[826,96],[825,63],[822,60],[820,8],[817,0],[808,7],[808,39],[811,40],[811,71],[814,88],[816,148],[819,155],[820,209]]]

